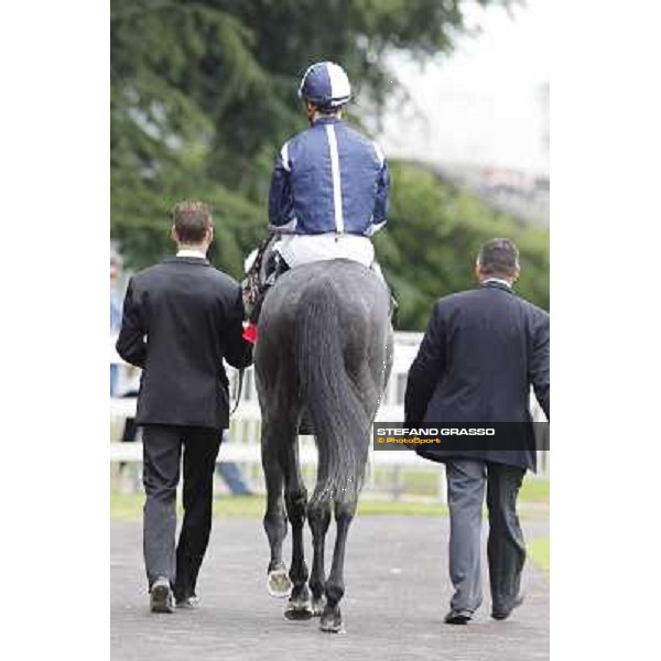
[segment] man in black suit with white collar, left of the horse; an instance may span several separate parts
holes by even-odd
[[[136,422],[143,426],[144,564],[151,609],[197,605],[195,584],[212,528],[213,477],[229,422],[223,359],[250,365],[239,284],[206,252],[212,215],[199,202],[174,207],[176,257],[133,275],[117,351],[140,367]],[[184,520],[175,551],[176,487],[183,448]]]

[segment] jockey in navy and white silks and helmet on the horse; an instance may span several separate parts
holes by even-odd
[[[299,96],[310,129],[285,142],[275,159],[269,229],[281,239],[274,249],[289,268],[338,258],[370,268],[370,237],[387,223],[383,152],[343,121],[351,86],[339,65],[319,62],[308,67]]]

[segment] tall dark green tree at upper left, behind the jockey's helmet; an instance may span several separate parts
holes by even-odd
[[[212,260],[238,275],[264,234],[273,155],[304,128],[303,71],[340,62],[357,96],[369,99],[365,111],[378,117],[393,87],[384,55],[451,51],[465,29],[463,8],[459,0],[111,0],[111,235],[129,264],[170,250],[166,213],[195,197],[215,209]]]

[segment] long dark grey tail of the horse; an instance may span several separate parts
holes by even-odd
[[[295,322],[295,359],[302,401],[318,449],[311,506],[356,502],[369,445],[369,420],[344,357],[340,300],[332,282],[307,289]]]

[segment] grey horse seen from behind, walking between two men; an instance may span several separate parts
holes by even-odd
[[[263,522],[271,548],[268,588],[273,596],[290,596],[289,619],[321,616],[323,631],[343,629],[347,533],[362,486],[371,423],[392,365],[389,299],[383,281],[357,262],[315,262],[280,277],[259,321],[254,367],[267,483]],[[299,464],[304,412],[318,449],[310,502]],[[337,534],[326,578],[324,543],[333,512]],[[289,575],[282,561],[288,517]],[[306,517],[314,549],[310,575],[303,549]]]

